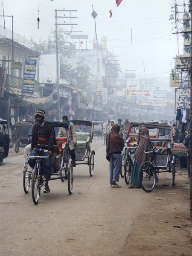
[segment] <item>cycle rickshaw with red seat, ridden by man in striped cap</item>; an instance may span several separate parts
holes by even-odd
[[[51,177],[49,180],[58,180],[61,179],[62,182],[67,180],[68,183],[68,192],[69,195],[72,193],[73,190],[73,162],[70,158],[69,154],[69,146],[70,146],[70,126],[64,122],[51,122],[54,128],[64,127],[68,129],[68,136],[66,137],[56,137],[57,145],[55,147],[55,154],[54,158],[52,159],[52,166],[51,166]],[[32,173],[28,172],[27,175],[23,173],[23,189],[25,193],[29,191],[30,181],[32,187],[32,199],[34,204],[38,204],[39,197],[41,194],[41,188],[45,184],[46,178],[43,177],[41,174],[41,159],[44,156],[29,156],[33,157],[36,160],[35,168],[33,169]],[[26,162],[25,162],[26,164]],[[52,177],[54,176],[54,177]]]

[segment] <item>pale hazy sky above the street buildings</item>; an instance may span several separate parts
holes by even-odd
[[[74,30],[83,32],[73,34],[88,35],[89,43],[92,43],[95,29],[91,16],[93,4],[98,14],[98,40],[101,42],[106,36],[108,49],[119,55],[120,68],[136,70],[137,76],[144,76],[144,62],[146,77],[168,80],[175,65],[173,58],[178,54],[178,45],[179,54],[183,53],[182,35],[172,34],[175,24],[169,20],[175,0],[123,0],[119,7],[116,7],[116,0],[0,0],[0,15],[3,15],[2,2],[5,15],[14,15],[14,32],[35,41],[40,37],[47,40],[51,30],[55,29],[55,9],[77,10],[73,15],[78,17],[73,19],[73,23],[78,23]],[[183,4],[183,0],[177,0],[177,3]],[[111,9],[113,15],[110,18]],[[38,16],[40,29],[37,28]],[[3,25],[2,18],[0,24]],[[12,29],[11,18],[6,18],[6,26]],[[68,30],[69,26],[65,28]]]

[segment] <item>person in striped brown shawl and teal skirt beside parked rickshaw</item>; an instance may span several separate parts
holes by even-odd
[[[150,151],[151,148],[153,148],[153,146],[149,138],[148,129],[143,126],[140,131],[140,142],[134,154],[134,162],[131,172],[131,186],[128,186],[128,189],[140,188],[140,181],[138,176],[139,168],[140,165],[148,158],[148,154],[145,154],[144,151]]]

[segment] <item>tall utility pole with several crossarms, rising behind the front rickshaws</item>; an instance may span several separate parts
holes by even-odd
[[[70,16],[57,16],[57,12],[70,12]],[[55,9],[55,44],[56,44],[56,72],[57,72],[57,78],[56,78],[56,84],[57,84],[57,99],[58,99],[58,121],[60,121],[60,96],[59,96],[59,67],[58,67],[58,32],[70,32],[72,33],[72,26],[77,25],[77,24],[72,24],[72,18],[77,18],[77,17],[72,17],[71,12],[77,12],[77,10],[57,10]],[[57,18],[70,18],[70,23],[58,23]],[[58,25],[69,25],[70,26],[70,31],[58,31]]]

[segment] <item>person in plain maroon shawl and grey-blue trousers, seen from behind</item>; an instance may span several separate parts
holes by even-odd
[[[116,181],[119,181],[119,173],[122,166],[121,151],[124,148],[124,140],[119,134],[120,126],[114,124],[112,126],[111,132],[108,133],[106,137],[106,151],[107,160],[109,161],[109,181],[111,187],[119,188],[121,187]]]

